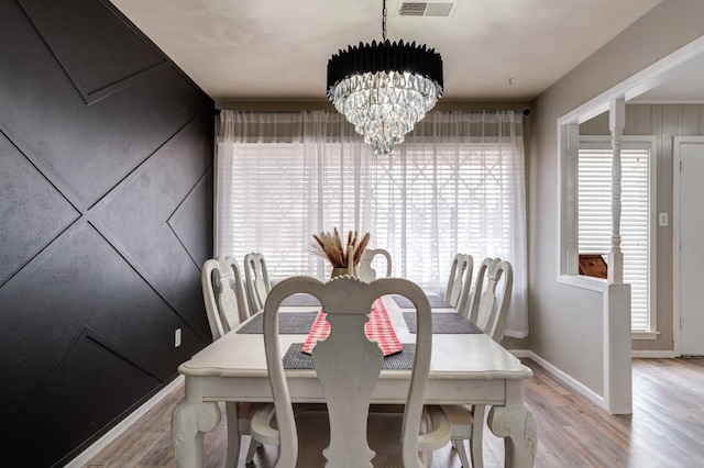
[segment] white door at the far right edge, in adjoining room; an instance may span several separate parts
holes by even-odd
[[[682,355],[704,355],[704,138],[675,138],[675,210],[679,198],[679,296],[680,352]],[[678,197],[679,194],[679,197]],[[678,215],[679,214],[679,215]],[[673,239],[676,242],[676,235]],[[678,257],[675,244],[674,256]],[[675,259],[676,261],[676,259]],[[675,274],[675,277],[678,275]],[[675,327],[676,327],[675,323]]]

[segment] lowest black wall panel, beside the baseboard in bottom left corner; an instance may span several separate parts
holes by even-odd
[[[66,456],[68,447],[80,446],[158,383],[105,346],[95,332],[85,330],[72,338],[74,346],[13,427],[11,438],[25,448],[9,460],[3,457],[4,466],[52,466]],[[116,375],[122,379],[111,378]],[[66,431],[67,423],[76,430]],[[26,441],[33,441],[36,449],[31,449]]]

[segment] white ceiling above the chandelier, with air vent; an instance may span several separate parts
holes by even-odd
[[[660,0],[441,1],[430,7],[447,7],[447,16],[400,15],[404,2],[387,0],[387,37],[442,55],[446,101],[520,102]],[[382,37],[382,0],[112,2],[220,102],[324,100],[330,56]],[[651,92],[648,99],[660,98]]]

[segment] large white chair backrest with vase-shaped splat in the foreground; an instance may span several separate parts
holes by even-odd
[[[264,347],[276,422],[280,437],[277,467],[294,467],[298,457],[298,435],[278,339],[278,307],[288,296],[305,292],[317,297],[330,323],[330,334],[312,350],[312,363],[322,387],[330,419],[330,445],[323,450],[327,466],[370,467],[374,453],[366,439],[366,421],[372,392],[384,356],[370,342],[364,323],[375,299],[400,294],[416,307],[418,333],[413,375],[404,412],[402,446],[404,466],[424,466],[418,457],[418,428],[424,393],[430,370],[432,330],[430,304],[417,285],[402,278],[364,282],[342,276],[323,283],[311,277],[292,277],[277,283],[264,308]]]

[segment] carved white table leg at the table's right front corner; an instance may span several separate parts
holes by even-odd
[[[532,467],[538,448],[538,423],[524,403],[522,380],[506,382],[506,405],[492,408],[488,427],[497,437],[504,437],[504,466]]]

